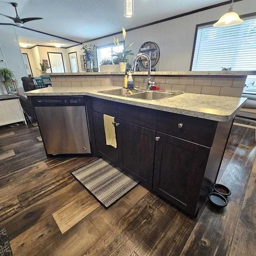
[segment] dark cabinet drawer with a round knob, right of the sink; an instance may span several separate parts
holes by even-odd
[[[158,112],[157,131],[210,147],[217,121],[169,112]]]

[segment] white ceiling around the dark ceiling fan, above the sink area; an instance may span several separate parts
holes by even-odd
[[[134,17],[123,16],[123,0],[16,0],[20,18],[42,17],[25,26],[76,41],[85,41],[151,23],[224,0],[134,0]],[[0,13],[14,8],[0,1]],[[12,23],[0,16],[0,23]]]

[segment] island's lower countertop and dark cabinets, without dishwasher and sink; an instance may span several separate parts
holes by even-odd
[[[117,88],[56,87],[26,95],[32,100],[84,96],[93,155],[197,215],[216,181],[233,118],[246,98],[183,93],[144,100],[100,93],[111,89]],[[106,145],[104,114],[115,117],[117,148]]]

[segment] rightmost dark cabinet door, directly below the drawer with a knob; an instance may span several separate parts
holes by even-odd
[[[210,148],[157,133],[154,190],[195,214]]]

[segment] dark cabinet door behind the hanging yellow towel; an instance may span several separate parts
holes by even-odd
[[[92,111],[93,128],[97,154],[118,165],[118,150],[106,145],[103,114]]]

